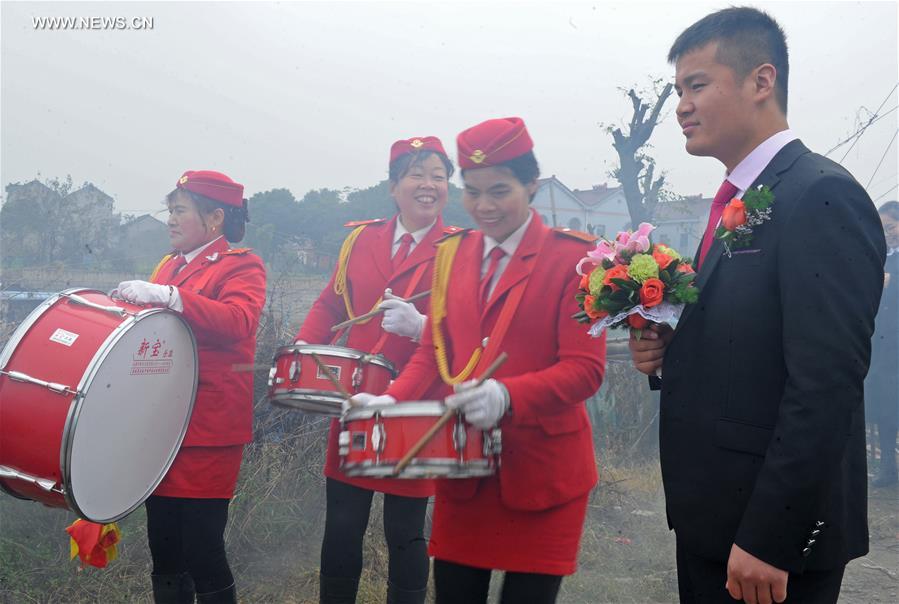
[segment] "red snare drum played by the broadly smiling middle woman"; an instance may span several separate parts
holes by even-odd
[[[380,354],[367,354],[343,346],[303,344],[282,346],[269,372],[269,400],[274,405],[338,417],[343,395],[328,379],[312,355],[331,370],[350,394],[387,390],[396,377],[393,363]]]

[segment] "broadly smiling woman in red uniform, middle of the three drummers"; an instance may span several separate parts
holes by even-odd
[[[446,205],[453,166],[433,136],[400,140],[390,149],[390,192],[399,213],[390,220],[349,223],[331,282],[313,304],[297,334],[298,343],[328,344],[342,334],[331,326],[380,306],[383,319],[350,328],[346,346],[381,353],[401,369],[416,347],[425,323],[407,298],[431,286],[434,242],[444,235],[440,213]],[[385,293],[392,291],[393,296]],[[375,393],[380,394],[380,393]],[[370,395],[354,397],[365,402]],[[369,401],[370,402],[370,401]],[[428,557],[423,535],[428,497],[426,480],[348,478],[338,469],[339,422],[331,423],[325,465],[327,514],[321,551],[320,600],[356,600],[362,572],[362,539],[374,491],[384,493],[384,534],[389,551],[387,601],[424,602]]]

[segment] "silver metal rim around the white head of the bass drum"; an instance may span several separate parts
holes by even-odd
[[[88,289],[67,290],[66,292],[63,292],[63,293],[69,293],[72,291],[98,291],[101,294],[105,294],[105,292],[102,292],[100,290],[88,290]],[[61,294],[59,296],[62,297]],[[125,336],[125,334],[128,332],[128,330],[130,330],[134,325],[136,325],[141,320],[143,320],[147,317],[157,315],[157,314],[162,314],[162,313],[170,315],[170,316],[174,317],[175,319],[177,319],[178,321],[180,321],[187,328],[187,333],[190,335],[190,340],[193,343],[193,346],[192,346],[193,353],[194,353],[194,355],[193,355],[194,356],[193,392],[190,397],[190,404],[188,405],[188,413],[185,416],[184,425],[181,428],[181,434],[178,437],[177,445],[175,447],[173,447],[172,452],[169,455],[169,459],[162,467],[162,470],[159,474],[158,480],[156,480],[154,483],[152,483],[148,487],[146,493],[138,498],[139,500],[137,501],[137,503],[135,503],[133,506],[131,506],[125,512],[117,514],[113,517],[92,518],[84,513],[84,511],[78,505],[78,502],[75,500],[75,495],[72,491],[72,480],[71,480],[71,478],[72,478],[71,461],[72,461],[73,438],[74,438],[75,429],[78,425],[78,416],[81,414],[81,408],[82,408],[82,405],[84,402],[85,394],[87,393],[88,389],[91,386],[91,383],[93,382],[94,378],[96,377],[96,374],[99,371],[100,365],[102,365],[103,361],[106,360],[106,358],[109,356],[109,353],[112,351],[112,349],[115,347],[115,345],[118,344],[118,342]],[[85,518],[87,520],[90,520],[91,522],[97,522],[97,523],[101,523],[101,524],[108,523],[108,522],[115,522],[117,520],[120,520],[121,518],[124,518],[125,516],[127,516],[128,514],[133,512],[134,510],[136,510],[138,507],[140,507],[144,503],[144,501],[147,500],[147,497],[149,497],[150,495],[153,494],[153,491],[156,490],[156,487],[159,486],[159,484],[162,482],[163,478],[165,478],[165,475],[168,473],[169,468],[171,468],[172,464],[175,462],[175,457],[177,457],[178,452],[181,450],[181,444],[184,442],[184,437],[187,436],[187,429],[190,426],[190,419],[193,416],[194,405],[197,400],[197,387],[198,387],[197,376],[199,375],[199,369],[200,369],[200,367],[199,367],[199,358],[198,358],[198,353],[197,353],[196,336],[194,336],[194,332],[190,328],[190,324],[188,324],[188,322],[184,319],[184,317],[182,317],[180,314],[178,314],[174,311],[164,309],[164,308],[147,308],[147,309],[141,310],[138,313],[135,313],[133,316],[129,316],[129,317],[123,319],[123,321],[112,332],[110,332],[110,334],[106,337],[106,340],[104,340],[103,344],[100,346],[100,348],[97,349],[97,352],[94,353],[94,356],[91,358],[90,362],[87,364],[84,374],[81,377],[81,381],[78,383],[78,388],[77,388],[78,394],[72,399],[72,402],[69,404],[69,412],[66,415],[66,422],[63,425],[62,440],[60,442],[60,447],[59,447],[59,458],[60,458],[59,459],[59,469],[60,469],[60,478],[62,479],[63,496],[65,497],[66,504],[69,506],[69,509],[71,509],[73,512],[75,512],[81,518]]]

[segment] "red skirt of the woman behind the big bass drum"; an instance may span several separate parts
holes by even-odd
[[[240,472],[243,445],[181,447],[154,495],[231,499]]]

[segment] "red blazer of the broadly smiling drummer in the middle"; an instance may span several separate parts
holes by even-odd
[[[347,225],[355,227],[365,224],[365,229],[360,233],[353,246],[347,266],[347,287],[350,291],[354,315],[358,316],[371,310],[387,287],[391,288],[395,295],[402,297],[408,297],[431,288],[434,243],[444,235],[443,222],[438,218],[424,239],[415,246],[399,269],[393,272],[391,252],[396,221],[397,216],[394,216],[390,220],[373,220],[368,223],[349,223]],[[331,332],[331,326],[345,321],[348,316],[343,297],[334,293],[334,277],[335,275],[331,275],[328,285],[309,310],[306,320],[303,321],[303,325],[296,335],[297,340],[305,340],[310,344],[330,344],[340,335],[340,333]],[[416,277],[417,281],[415,281]],[[413,281],[415,282],[413,283]],[[427,312],[427,298],[417,300],[414,304],[419,312]],[[376,316],[368,323],[352,326],[346,346],[372,352],[385,334],[381,329],[381,318],[381,316]],[[418,344],[409,338],[387,334],[379,352],[390,359],[399,371],[412,356],[417,346]],[[382,393],[375,392],[373,394]],[[428,497],[433,494],[431,481],[348,478],[342,474],[339,470],[340,460],[337,454],[339,425],[337,420],[331,424],[325,476],[361,488],[394,495]]]

